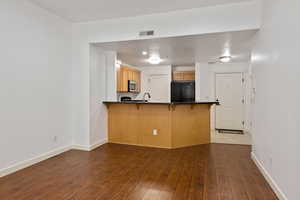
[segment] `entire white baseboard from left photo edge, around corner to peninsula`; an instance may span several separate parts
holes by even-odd
[[[65,147],[61,147],[61,148],[55,149],[53,151],[49,151],[47,153],[44,153],[44,154],[42,154],[40,156],[37,156],[35,158],[29,159],[29,160],[26,160],[26,161],[23,161],[23,162],[16,163],[16,164],[14,164],[10,167],[4,168],[4,169],[0,169],[0,177],[12,174],[12,173],[17,172],[17,171],[19,171],[21,169],[24,169],[26,167],[30,167],[34,164],[37,164],[37,163],[39,163],[41,161],[44,161],[44,160],[47,160],[51,157],[54,157],[56,155],[59,155],[59,154],[64,153],[66,151],[69,151],[71,149],[76,149],[76,150],[81,150],[81,151],[92,151],[92,150],[96,149],[97,147],[99,147],[99,146],[101,146],[105,143],[107,143],[107,140],[98,141],[98,142],[96,142],[96,143],[94,143],[93,145],[90,145],[90,146],[68,145],[68,146],[65,146]]]

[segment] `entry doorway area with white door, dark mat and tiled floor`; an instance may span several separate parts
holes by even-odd
[[[215,73],[215,97],[220,106],[214,110],[215,129],[213,143],[251,145],[251,134],[246,126],[247,73]]]

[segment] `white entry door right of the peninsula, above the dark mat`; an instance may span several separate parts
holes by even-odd
[[[216,74],[216,128],[244,130],[244,81],[242,73]]]

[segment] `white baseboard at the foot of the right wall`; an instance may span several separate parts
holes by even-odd
[[[275,194],[277,195],[279,200],[288,200],[285,194],[282,192],[282,190],[279,188],[277,183],[274,181],[272,176],[268,173],[268,171],[263,167],[262,163],[257,159],[255,154],[251,152],[251,158],[262,173],[262,175],[265,177]]]

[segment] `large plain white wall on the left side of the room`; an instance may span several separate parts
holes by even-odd
[[[72,138],[71,24],[25,0],[1,0],[0,24],[1,171]]]

